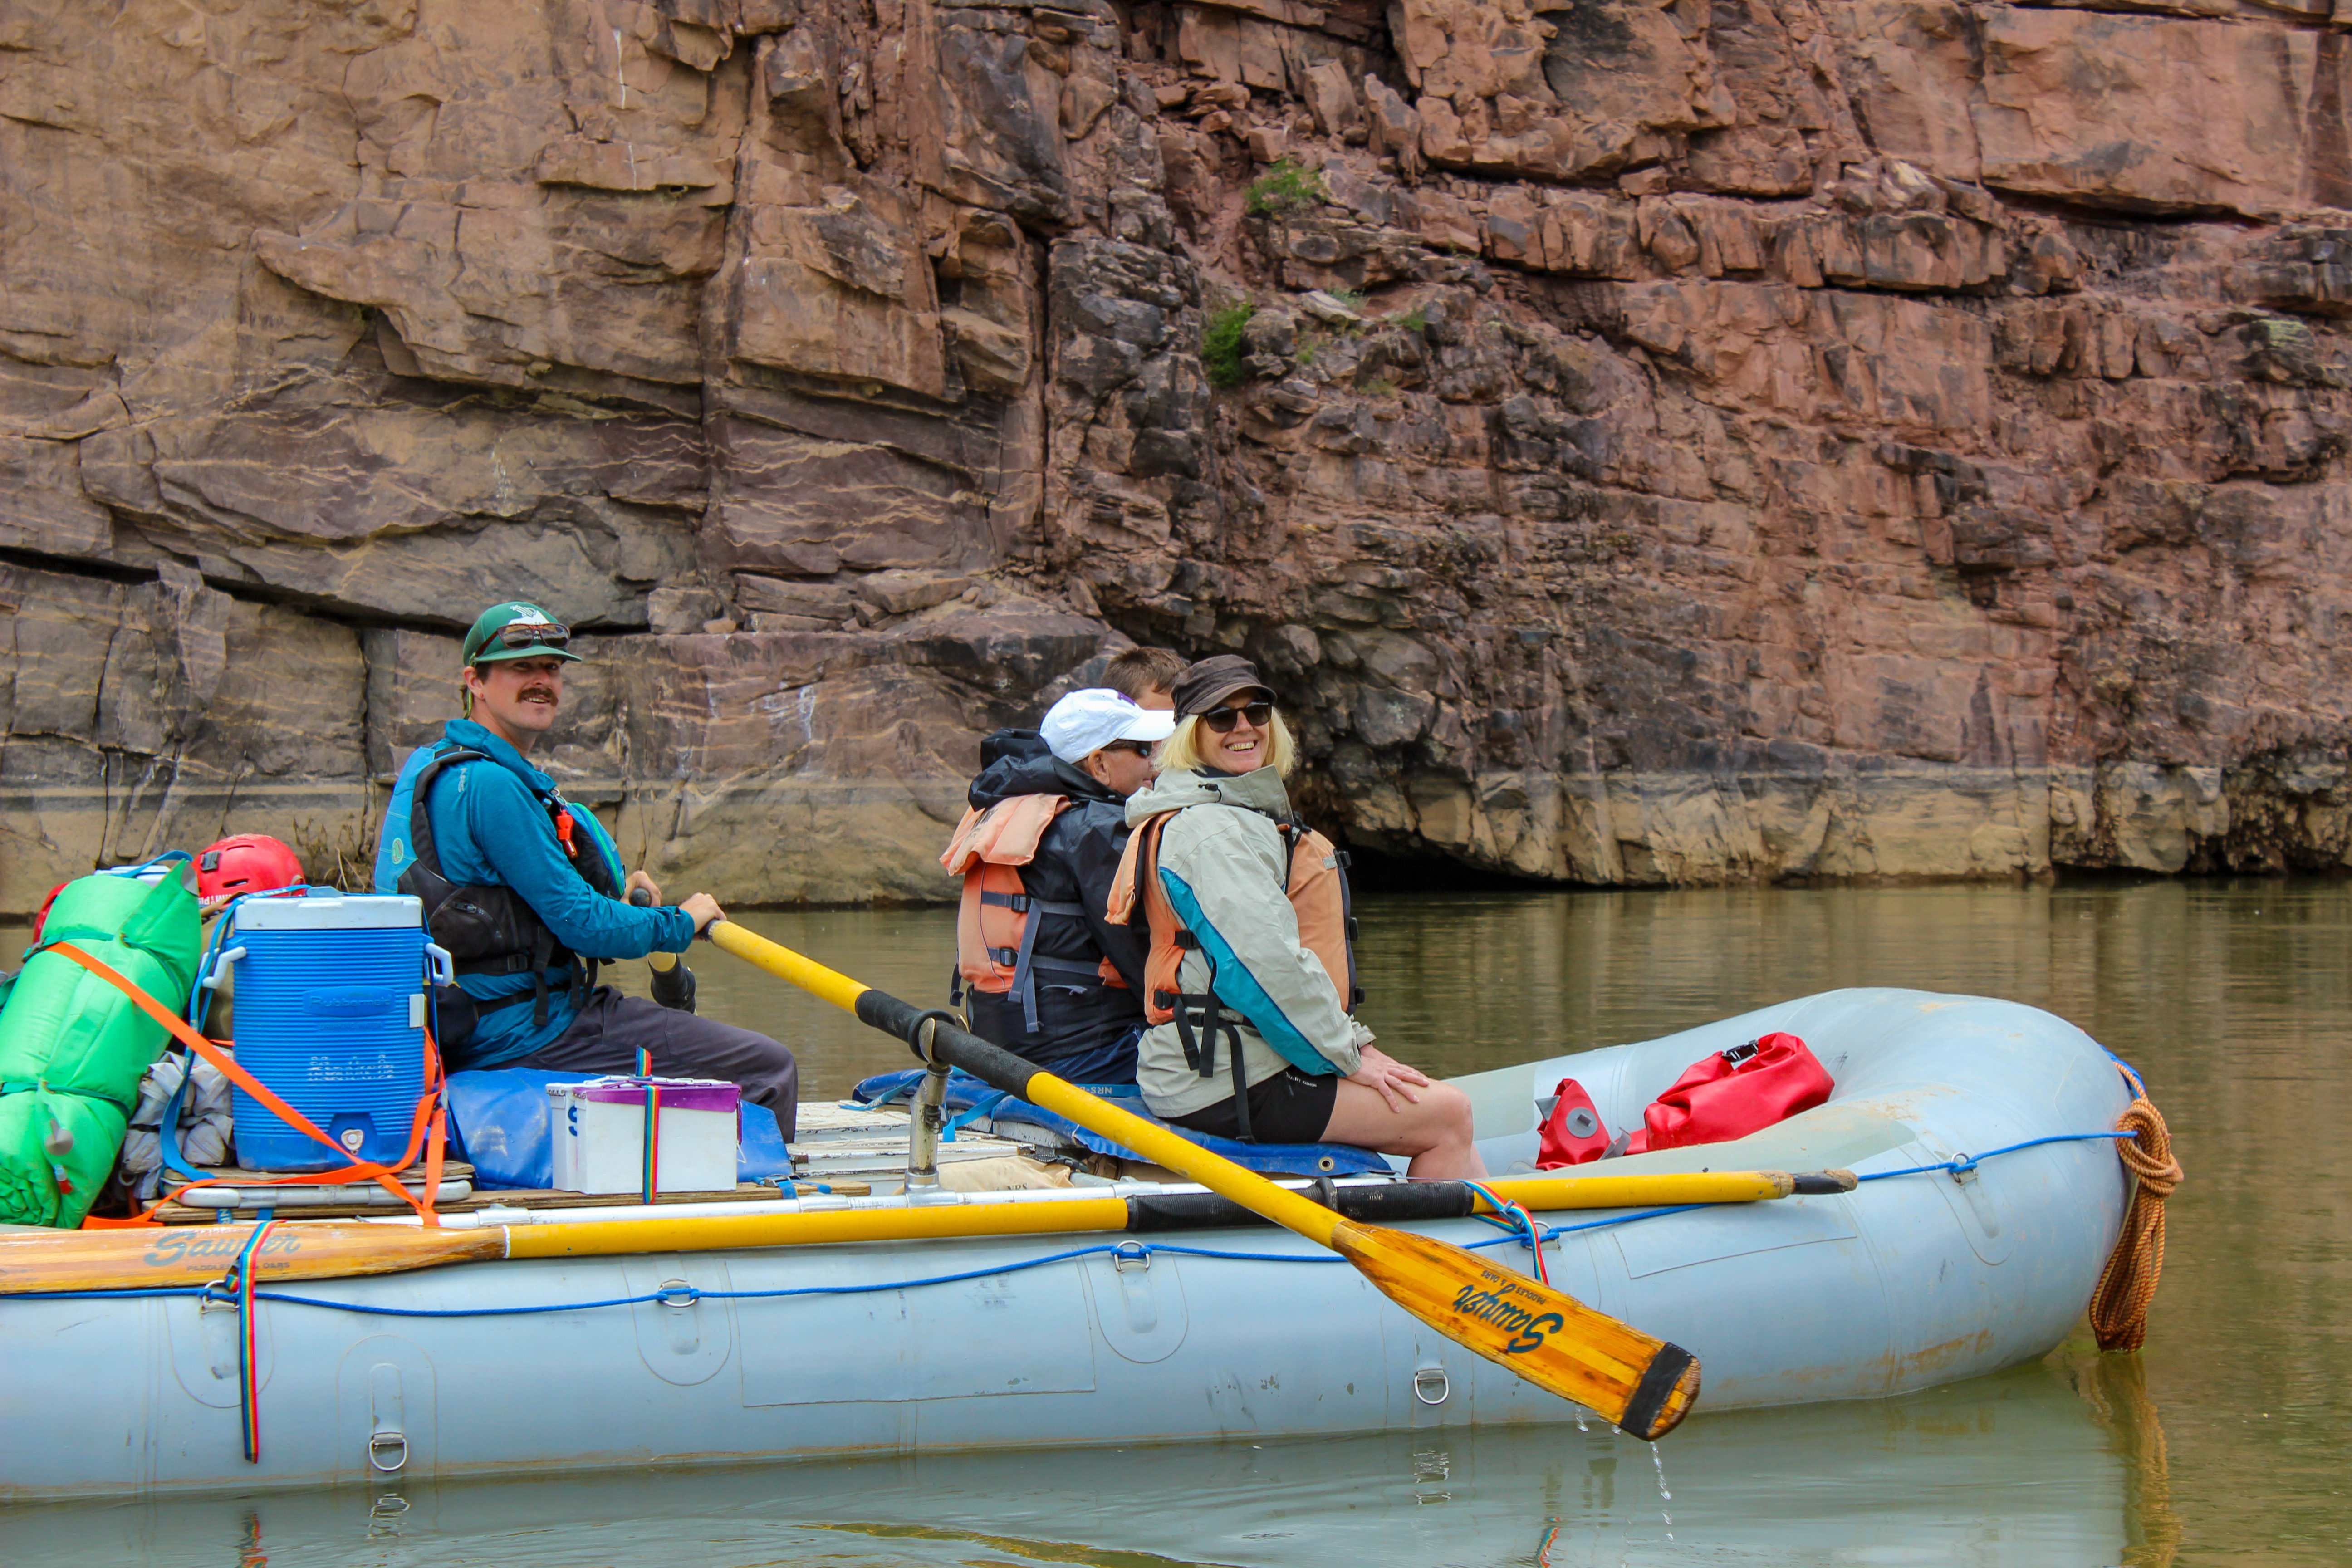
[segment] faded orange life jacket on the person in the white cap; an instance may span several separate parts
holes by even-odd
[[[1014,795],[988,811],[964,809],[955,837],[938,863],[964,879],[964,900],[955,912],[955,973],[948,1001],[962,1004],[962,987],[1007,994],[1021,1001],[1021,1023],[1037,1032],[1037,973],[1056,985],[1117,985],[1127,990],[1108,957],[1094,964],[1037,954],[1037,917],[1068,914],[1084,919],[1084,905],[1030,898],[1021,867],[1037,858],[1037,842],[1054,818],[1068,811],[1063,795]]]

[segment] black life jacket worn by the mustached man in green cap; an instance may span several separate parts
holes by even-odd
[[[489,762],[496,766],[496,759],[487,752],[452,748],[416,769],[416,778],[409,780],[409,846],[416,860],[400,872],[397,891],[423,900],[426,931],[449,950],[456,973],[529,973],[534,980],[532,1023],[546,1025],[550,997],[595,985],[597,961],[581,959],[564,947],[555,931],[548,929],[548,922],[539,919],[539,910],[515,889],[506,884],[461,884],[442,875],[440,846],[433,842],[433,813],[426,811],[426,799],[442,769],[459,762]],[[534,790],[534,795],[548,809],[555,839],[564,846],[572,870],[604,898],[619,898],[621,884],[612,872],[612,863],[604,858],[595,835],[579,832],[572,820],[572,804],[564,802],[562,792],[548,788]],[[586,842],[579,842],[583,837]],[[562,985],[548,985],[548,971],[557,964],[564,969]],[[440,1020],[442,1051],[461,1048],[473,1039],[473,1027],[482,1016],[477,997],[456,985],[437,985],[433,990],[433,1006]]]

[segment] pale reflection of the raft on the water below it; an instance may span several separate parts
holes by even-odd
[[[2051,1368],[1860,1406],[1595,1429],[1437,1429],[0,1516],[7,1561],[381,1563],[2037,1563],[2122,1559],[2126,1467]]]

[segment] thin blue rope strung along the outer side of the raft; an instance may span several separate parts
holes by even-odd
[[[1985,1159],[1997,1159],[2002,1154],[2016,1154],[2018,1150],[2034,1150],[2046,1143],[2096,1143],[2105,1138],[2129,1138],[2131,1133],[2056,1133],[2051,1138],[2027,1138],[2025,1143],[2011,1143],[1985,1154],[1962,1154],[1959,1159],[1947,1159],[1933,1166],[1907,1166],[1903,1171],[1872,1171],[1863,1175],[1865,1182],[1886,1180],[1889,1175],[1931,1175],[1936,1171],[1973,1171]],[[1494,1201],[1494,1194],[1486,1197]],[[1515,1208],[1496,1204],[1496,1208]],[[1599,1220],[1578,1220],[1576,1225],[1538,1225],[1534,1244],[1557,1241],[1559,1237],[1571,1237],[1585,1229],[1606,1229],[1611,1225],[1632,1225],[1637,1220],[1661,1220],[1675,1213],[1696,1213],[1700,1208],[1719,1208],[1719,1204],[1675,1204],[1670,1208],[1639,1208],[1635,1213],[1606,1215]],[[1522,1213],[1526,1213],[1522,1208]],[[1470,1241],[1465,1251],[1486,1251],[1491,1246],[1531,1246],[1529,1232],[1505,1220],[1494,1220],[1491,1215],[1475,1215],[1489,1225],[1503,1225],[1508,1234],[1489,1237],[1486,1241]],[[254,1291],[252,1298],[261,1302],[280,1302],[287,1307],[322,1307],[327,1312],[355,1312],[360,1316],[529,1316],[534,1312],[593,1312],[600,1307],[640,1307],[647,1302],[699,1302],[699,1300],[781,1300],[793,1295],[873,1295],[877,1291],[917,1291],[924,1286],[953,1286],[967,1279],[993,1279],[997,1274],[1018,1274],[1023,1269],[1042,1269],[1056,1262],[1073,1262],[1077,1258],[1094,1255],[1117,1255],[1124,1260],[1148,1262],[1157,1253],[1171,1258],[1218,1258],[1225,1262],[1345,1262],[1336,1253],[1235,1253],[1214,1246],[1176,1246],[1176,1244],[1145,1244],[1145,1241],[1101,1241],[1096,1246],[1075,1246],[1063,1253],[1047,1253],[1044,1258],[1023,1258],[1018,1262],[997,1262],[981,1269],[960,1269],[955,1274],[929,1274],[924,1279],[887,1279],[863,1286],[793,1286],[786,1291],[701,1291],[689,1284],[670,1286],[668,1291],[647,1291],[642,1295],[607,1295],[586,1302],[543,1302],[534,1307],[369,1307],[365,1302],[339,1302],[322,1295],[294,1295],[292,1291]],[[176,1298],[176,1295],[205,1295],[207,1286],[162,1286],[151,1291],[24,1291],[14,1300],[136,1300],[136,1298]]]

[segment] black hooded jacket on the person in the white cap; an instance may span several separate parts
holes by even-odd
[[[1127,851],[1127,802],[1061,762],[1028,729],[1000,729],[981,741],[981,776],[971,780],[971,806],[985,811],[1016,795],[1063,795],[1070,806],[1037,839],[1037,858],[1021,867],[1021,886],[1033,898],[1075,903],[1084,919],[1033,914],[1037,954],[1094,964],[1110,959],[1127,990],[1115,985],[1068,987],[1037,983],[1037,1034],[1028,1034],[1021,1004],[1011,997],[971,992],[971,1030],[1040,1067],[1098,1056],[1143,1025],[1143,959],[1148,936],[1115,926],[1103,914],[1110,882]],[[1127,1077],[1134,1077],[1131,1070]]]

